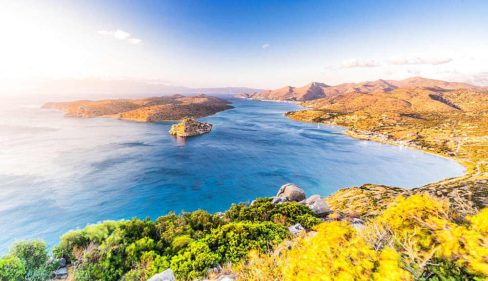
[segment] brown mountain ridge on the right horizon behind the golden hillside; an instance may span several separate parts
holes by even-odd
[[[431,90],[468,89],[477,92],[488,91],[488,87],[479,87],[464,82],[447,82],[421,77],[410,77],[399,81],[380,79],[362,83],[342,83],[336,86],[312,82],[300,88],[286,86],[277,90],[255,91],[253,93],[238,94],[233,97],[253,100],[308,101],[346,93],[390,92],[395,89],[406,87],[424,87]]]

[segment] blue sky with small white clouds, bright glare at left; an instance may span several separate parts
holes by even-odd
[[[30,1],[0,9],[0,81],[274,89],[488,78],[488,1]]]

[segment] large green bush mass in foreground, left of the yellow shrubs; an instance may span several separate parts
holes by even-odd
[[[104,221],[70,231],[53,253],[78,260],[77,281],[148,279],[171,268],[177,278],[199,278],[226,261],[245,259],[249,250],[262,253],[289,239],[286,227],[271,222],[302,223],[309,229],[320,222],[310,208],[297,203],[272,204],[259,199],[252,206],[233,205],[224,218],[206,211],[183,212],[151,221]]]

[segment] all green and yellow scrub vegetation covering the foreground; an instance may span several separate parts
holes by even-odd
[[[260,198],[225,214],[90,224],[65,233],[52,254],[69,257],[77,281],[145,281],[167,268],[180,280],[231,271],[248,281],[486,280],[488,209],[464,206],[398,196],[358,231],[346,221],[323,222],[305,205]],[[297,222],[317,233],[292,237],[286,226]],[[286,240],[291,249],[276,255]],[[57,269],[48,258],[44,242],[16,242],[0,260],[0,280],[46,280]]]

